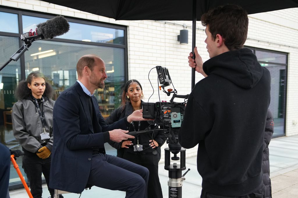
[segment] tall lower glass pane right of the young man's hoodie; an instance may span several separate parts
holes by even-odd
[[[285,133],[285,83],[286,83],[286,66],[281,65],[266,65],[271,75],[271,91],[270,105],[274,118],[274,136],[280,136]]]

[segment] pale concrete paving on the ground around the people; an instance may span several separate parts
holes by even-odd
[[[280,137],[271,140],[269,144],[270,171],[272,184],[272,198],[298,198],[298,135]],[[202,178],[196,168],[196,156],[186,159],[186,166],[190,168],[182,186],[182,196],[185,198],[198,198],[201,194]],[[183,171],[182,173],[184,173]],[[159,164],[159,180],[162,185],[163,197],[168,197],[168,171],[164,164]],[[43,197],[47,198],[49,192],[44,186]],[[80,194],[63,194],[65,198],[78,198]],[[11,191],[11,198],[28,198],[24,189]],[[123,198],[125,192],[111,191],[103,188],[92,187],[91,190],[82,192],[80,198]]]

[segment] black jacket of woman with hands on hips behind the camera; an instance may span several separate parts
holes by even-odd
[[[143,101],[142,101],[142,105],[143,105]],[[120,106],[118,109],[113,111],[109,117],[107,117],[105,122],[107,124],[112,124],[112,123],[122,119],[123,117],[129,116],[130,114],[132,114],[132,112],[133,112],[133,109],[132,109],[131,103],[126,103],[124,110],[122,109],[122,106]],[[150,123],[148,121],[141,121],[140,129],[138,129],[138,122],[133,122],[133,123],[136,128],[136,131],[143,131],[150,125]],[[128,131],[134,131],[134,127],[132,126],[132,124],[129,125]],[[117,149],[117,157],[122,158],[124,151],[130,152],[130,153],[136,153],[134,151],[133,146],[137,144],[137,138],[139,138],[139,144],[143,145],[143,151],[140,151],[142,154],[146,154],[146,153],[154,153],[155,154],[156,151],[160,152],[160,147],[164,143],[164,133],[163,132],[155,132],[155,134],[153,134],[153,139],[158,143],[159,147],[154,148],[154,149],[152,149],[149,146],[149,144],[150,144],[149,140],[152,139],[152,133],[139,134],[135,137],[135,139],[128,139],[133,142],[133,145],[128,146],[129,148],[121,148],[122,142],[117,143],[117,142],[111,141],[111,142],[109,142],[109,144],[112,147],[114,147],[115,149]]]

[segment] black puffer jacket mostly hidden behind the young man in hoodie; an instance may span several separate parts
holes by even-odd
[[[272,138],[274,132],[274,121],[273,116],[268,109],[265,134],[264,134],[264,145],[263,145],[263,162],[262,162],[262,171],[263,171],[263,183],[265,185],[265,197],[271,198],[271,180],[270,180],[270,164],[269,164],[269,149],[268,145]]]

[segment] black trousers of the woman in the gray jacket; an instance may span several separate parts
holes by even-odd
[[[23,156],[22,165],[29,180],[30,192],[34,198],[42,198],[42,179],[41,173],[44,174],[48,190],[51,197],[54,197],[54,189],[49,188],[49,175],[51,167],[51,155],[46,159],[36,156]],[[63,197],[60,195],[60,197]]]

